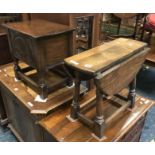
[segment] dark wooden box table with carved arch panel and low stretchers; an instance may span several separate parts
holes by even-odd
[[[16,78],[31,86],[42,99],[71,84],[63,59],[72,55],[73,28],[44,20],[3,24],[14,59]],[[21,69],[19,60],[27,63]],[[26,74],[35,70],[31,77]]]

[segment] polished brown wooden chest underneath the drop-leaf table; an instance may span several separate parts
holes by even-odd
[[[124,90],[127,95],[127,91]],[[125,95],[125,96],[126,96]],[[89,91],[80,98],[80,107],[84,106],[85,101],[96,96],[95,90]],[[118,105],[123,100],[117,100],[116,97],[106,99],[103,104],[105,119],[118,109]],[[123,111],[119,117],[109,125],[104,131],[102,140],[94,138],[92,130],[87,128],[80,121],[71,122],[67,119],[70,114],[70,106],[60,108],[52,115],[42,119],[39,124],[43,128],[47,141],[55,139],[58,142],[138,142],[143,129],[145,117],[154,102],[136,96],[135,107],[132,110]],[[86,113],[89,118],[95,115],[95,107]]]

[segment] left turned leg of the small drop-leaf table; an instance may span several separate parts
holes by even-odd
[[[71,104],[71,118],[73,119],[78,118],[78,112],[80,110],[80,106],[79,106],[80,83],[81,81],[80,81],[79,75],[78,73],[76,73],[73,102]]]

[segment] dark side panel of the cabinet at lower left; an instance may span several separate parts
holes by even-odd
[[[7,88],[2,87],[8,120],[23,141],[42,141],[41,128],[36,124],[37,116],[29,110]]]

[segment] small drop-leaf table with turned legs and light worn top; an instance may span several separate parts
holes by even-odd
[[[92,48],[84,53],[66,58],[65,63],[73,70],[75,90],[71,105],[71,119],[80,119],[89,126],[95,136],[103,138],[104,128],[119,113],[135,104],[136,74],[145,61],[149,48],[147,44],[131,39],[119,38],[107,44]],[[94,79],[96,86],[96,116],[88,119],[79,107],[79,90],[81,80]],[[118,93],[129,86],[126,98]],[[120,108],[105,120],[103,101],[109,96],[116,95],[124,100]],[[87,101],[88,102],[88,101]],[[89,110],[94,104],[90,103],[85,109]]]

